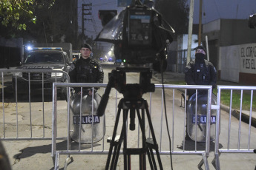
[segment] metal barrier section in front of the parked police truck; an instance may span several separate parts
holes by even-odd
[[[2,107],[0,140],[51,140],[51,131],[49,130],[51,121],[49,118],[51,118],[52,113],[52,107],[50,105],[52,98],[45,101],[45,84],[46,82],[49,84],[49,78],[51,78],[53,82],[58,82],[59,73],[65,77],[66,82],[70,82],[68,73],[55,69],[0,69],[0,72]],[[36,74],[39,78],[33,79],[33,74]],[[19,84],[20,82],[17,81],[17,77],[22,78],[24,84]],[[36,82],[36,85],[33,84],[32,81]],[[51,82],[51,84],[53,82]],[[12,89],[7,90],[5,88],[7,84],[9,88],[12,86]],[[32,96],[34,94],[32,89],[35,86],[39,86],[39,89],[41,88],[38,94],[41,95],[42,98],[38,99],[38,97],[36,97],[36,102],[33,102],[34,98],[32,98]],[[52,86],[47,86],[47,89],[50,90],[50,94],[52,95]],[[19,92],[22,94],[19,94]],[[4,96],[7,95],[7,93],[8,95],[13,95],[12,97],[9,96],[8,100],[7,96]],[[27,95],[26,99],[23,98],[24,95]],[[20,97],[22,97],[21,100],[19,100]],[[7,105],[13,109],[5,112]],[[39,110],[36,110],[36,108],[39,108]],[[41,116],[40,118],[35,118],[33,115]],[[39,129],[42,129],[42,131]]]

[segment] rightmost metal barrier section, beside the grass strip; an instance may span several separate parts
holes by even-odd
[[[216,141],[215,141],[215,150],[214,150],[214,160],[212,163],[215,165],[215,169],[220,169],[220,154],[221,153],[255,153],[255,149],[253,148],[255,146],[252,146],[252,143],[255,143],[255,137],[251,138],[251,130],[252,130],[252,106],[254,103],[255,106],[255,100],[253,100],[253,94],[256,90],[256,86],[217,86],[217,105],[220,106],[220,97],[221,97],[221,92],[222,90],[230,90],[230,105],[229,105],[229,124],[224,127],[223,129],[228,129],[227,132],[224,132],[222,130],[222,133],[225,133],[226,136],[220,137],[220,109],[217,109],[217,125],[216,125]],[[234,101],[233,97],[233,92],[237,90],[240,92],[240,109],[239,113],[237,113],[237,121],[235,122],[234,120],[232,121],[232,117],[234,116],[235,111],[232,109],[232,101]],[[249,119],[249,126],[246,127],[246,129],[243,129],[241,126],[242,122],[242,115],[243,112],[246,112],[243,110],[243,101],[248,101],[243,100],[243,93],[249,93],[250,98],[249,98],[249,103],[250,103],[250,108],[249,108],[249,114],[248,114],[248,119]],[[235,127],[235,128],[234,128]],[[232,136],[231,132],[235,131],[237,132],[237,136]],[[220,140],[227,142],[226,147],[223,146],[222,149],[220,149],[219,143]],[[254,139],[254,141],[252,141]]]

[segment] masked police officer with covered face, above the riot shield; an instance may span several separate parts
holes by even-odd
[[[195,48],[195,60],[188,63],[185,68],[185,81],[188,85],[211,85],[216,86],[216,69],[210,61],[206,60],[206,50],[203,46]],[[198,90],[199,93],[207,90]],[[188,90],[188,98],[195,90]]]

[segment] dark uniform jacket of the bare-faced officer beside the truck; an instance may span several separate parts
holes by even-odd
[[[104,78],[102,66],[91,58],[79,58],[69,75],[71,83],[103,83]],[[76,92],[80,91],[80,88],[74,89]]]

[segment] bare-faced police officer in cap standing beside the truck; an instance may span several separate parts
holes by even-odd
[[[81,55],[70,71],[71,83],[103,83],[104,72],[102,66],[91,59],[92,47],[89,44],[82,44]],[[81,94],[81,88],[74,88],[77,94]],[[95,88],[96,90],[96,88]],[[84,95],[92,95],[91,88],[83,88]]]

